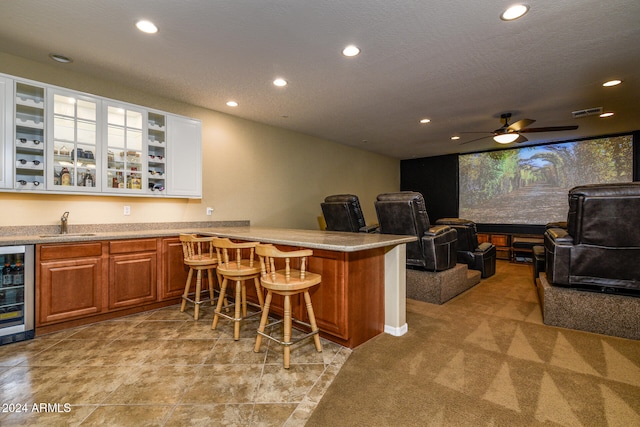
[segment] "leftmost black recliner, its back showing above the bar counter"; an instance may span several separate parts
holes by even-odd
[[[365,224],[360,201],[353,194],[327,196],[320,206],[327,223],[327,231],[373,233],[378,229],[378,224],[371,226]]]

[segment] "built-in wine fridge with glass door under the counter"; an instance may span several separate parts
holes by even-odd
[[[0,345],[35,335],[33,245],[0,246]]]

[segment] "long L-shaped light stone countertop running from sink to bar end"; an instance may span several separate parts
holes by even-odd
[[[251,227],[248,221],[76,225],[69,226],[69,231],[68,234],[59,234],[55,226],[0,227],[0,246],[142,239],[197,233],[310,249],[356,252],[416,240],[414,236],[391,234]]]

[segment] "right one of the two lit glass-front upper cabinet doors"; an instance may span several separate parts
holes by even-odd
[[[146,170],[143,117],[146,113],[127,105],[105,104],[106,180],[109,192],[142,193]]]

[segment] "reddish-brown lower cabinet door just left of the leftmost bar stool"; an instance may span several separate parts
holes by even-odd
[[[184,265],[180,238],[162,239],[162,278],[160,279],[160,300],[176,298],[184,292],[189,269]],[[206,276],[206,275],[205,275]],[[193,279],[195,280],[195,278]]]

